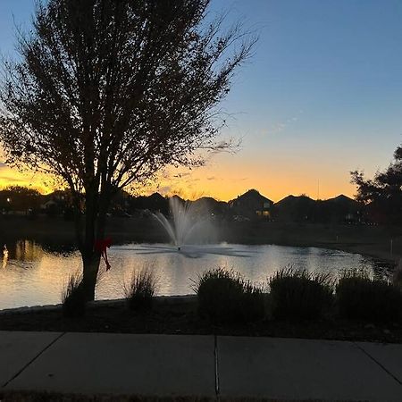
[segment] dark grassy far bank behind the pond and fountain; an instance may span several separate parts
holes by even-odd
[[[402,258],[402,228],[282,222],[215,222],[212,241],[240,244],[276,244],[326,247],[398,262]],[[74,243],[74,226],[61,218],[0,216],[0,244],[35,239],[46,245]],[[107,234],[114,243],[167,242],[167,235],[152,218],[109,218]],[[391,254],[392,240],[392,254]]]

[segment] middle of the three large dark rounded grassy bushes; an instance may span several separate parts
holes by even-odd
[[[269,285],[273,318],[320,318],[333,302],[333,281],[329,273],[289,267],[276,272]]]

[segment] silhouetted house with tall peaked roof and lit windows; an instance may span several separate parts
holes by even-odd
[[[242,220],[241,217],[269,219],[272,214],[273,202],[255,189],[248,190],[241,196],[229,201],[228,204],[231,214],[238,217],[237,220]]]

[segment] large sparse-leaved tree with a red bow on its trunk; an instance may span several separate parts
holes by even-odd
[[[0,140],[7,162],[54,174],[71,189],[82,286],[95,296],[105,216],[116,192],[166,164],[202,163],[217,105],[255,38],[210,0],[48,0],[5,63]]]

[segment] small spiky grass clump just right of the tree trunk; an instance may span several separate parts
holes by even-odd
[[[133,271],[130,281],[124,283],[123,286],[127,306],[133,311],[150,310],[155,289],[156,279],[154,272],[144,268],[140,271]]]

